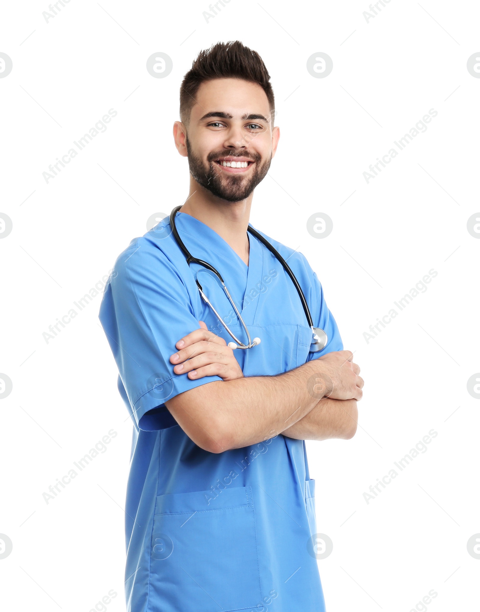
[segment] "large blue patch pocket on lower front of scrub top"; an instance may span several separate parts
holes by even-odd
[[[148,610],[224,612],[261,599],[251,487],[159,495]]]

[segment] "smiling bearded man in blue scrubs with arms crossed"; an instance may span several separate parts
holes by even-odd
[[[279,140],[273,116],[256,52],[237,41],[199,54],[174,124],[190,166],[172,216],[184,248],[165,218],[131,241],[105,289],[100,321],[135,427],[129,611],[324,610],[305,439],[352,438],[363,380],[305,257],[267,238],[327,334],[318,352],[292,278],[247,231]]]

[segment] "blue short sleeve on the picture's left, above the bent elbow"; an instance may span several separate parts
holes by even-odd
[[[177,425],[165,401],[221,380],[174,373],[175,343],[200,326],[175,266],[147,239],[134,239],[117,259],[98,316],[119,369],[120,395],[139,429]]]

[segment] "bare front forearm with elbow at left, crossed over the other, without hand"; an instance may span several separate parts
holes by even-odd
[[[193,441],[210,452],[242,448],[271,438],[308,414],[322,397],[308,362],[278,376],[216,381],[185,391],[166,405]],[[325,393],[328,389],[324,389]]]

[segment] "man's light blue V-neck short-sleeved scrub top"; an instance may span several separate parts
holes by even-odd
[[[221,274],[252,338],[234,353],[245,376],[272,376],[343,348],[317,275],[305,256],[267,240],[287,259],[328,344],[309,353],[312,332],[281,263],[248,234],[249,265],[212,229],[175,218],[186,248]],[[305,441],[272,432],[242,449],[196,446],[164,401],[218,376],[177,375],[169,357],[199,320],[231,337],[202,300],[195,277],[237,337],[245,332],[215,277],[186,263],[168,217],[135,238],[115,263],[100,321],[119,368],[118,387],[133,420],[125,532],[128,612],[322,612],[315,481]],[[241,305],[241,306],[240,306]],[[321,531],[321,530],[320,530]]]

